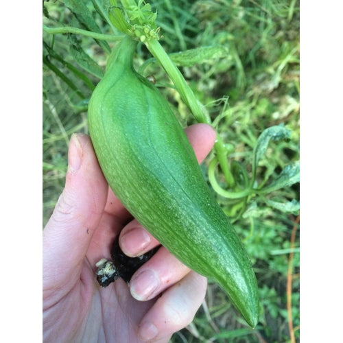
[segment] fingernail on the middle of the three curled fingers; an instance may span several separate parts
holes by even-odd
[[[130,292],[135,299],[145,301],[152,298],[159,285],[160,282],[152,270],[143,270],[130,281]]]

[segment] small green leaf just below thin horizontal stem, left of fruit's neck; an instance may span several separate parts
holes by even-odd
[[[73,56],[75,62],[77,62],[85,71],[88,71],[88,73],[91,73],[101,79],[104,76],[104,71],[99,67],[97,62],[84,52],[84,49],[82,49],[75,36],[69,36],[69,43],[69,51],[71,52],[71,56]]]

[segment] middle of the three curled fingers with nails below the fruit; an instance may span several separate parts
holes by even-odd
[[[140,301],[154,298],[180,281],[189,268],[164,247],[135,272],[130,280],[131,295]]]

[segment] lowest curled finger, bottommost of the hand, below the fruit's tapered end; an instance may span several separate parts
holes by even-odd
[[[186,327],[196,315],[206,294],[207,281],[196,272],[158,298],[139,324],[139,337],[145,342],[156,342]]]

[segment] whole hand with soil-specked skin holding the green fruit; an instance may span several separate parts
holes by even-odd
[[[185,132],[202,161],[215,130],[196,124]],[[73,135],[68,160],[64,190],[43,230],[43,341],[168,342],[193,320],[206,278],[161,247],[135,272],[130,287],[122,279],[100,287],[95,263],[110,259],[116,235],[132,257],[158,241],[108,189],[88,136]]]

